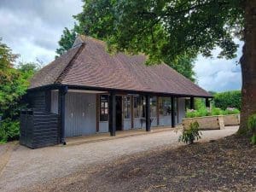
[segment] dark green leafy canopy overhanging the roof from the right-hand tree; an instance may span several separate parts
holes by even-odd
[[[236,56],[243,24],[241,0],[125,1],[84,0],[83,12],[76,15],[79,31],[104,38],[111,50],[143,52],[149,62],[175,61],[180,55]]]

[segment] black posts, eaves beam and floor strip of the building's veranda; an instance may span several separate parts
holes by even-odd
[[[96,87],[84,87],[84,86],[74,86],[74,85],[63,85],[56,87],[48,87],[48,90],[59,90],[58,91],[58,113],[60,117],[60,141],[61,143],[66,144],[67,142],[70,143],[71,141],[79,141],[79,138],[82,140],[86,139],[91,141],[96,139],[100,139],[102,137],[109,138],[109,133],[111,137],[129,137],[130,135],[137,135],[137,134],[144,134],[145,131],[151,131],[151,114],[150,114],[150,97],[151,96],[165,96],[170,97],[172,102],[171,108],[171,118],[172,118],[172,125],[170,126],[161,126],[161,127],[154,127],[154,131],[165,131],[168,128],[174,128],[176,125],[176,118],[175,118],[175,105],[174,101],[176,98],[179,97],[186,97],[189,98],[189,108],[195,108],[195,97],[201,97],[206,99],[206,106],[210,107],[209,98],[211,96],[184,96],[184,95],[177,95],[177,94],[160,94],[154,92],[145,92],[145,91],[134,91],[134,90],[110,90],[104,88],[96,88]],[[82,137],[65,137],[65,102],[66,102],[66,94],[69,90],[90,90],[90,91],[102,91],[108,93],[109,96],[109,114],[108,114],[108,127],[109,133],[97,133],[95,136],[82,136]],[[145,128],[137,129],[137,130],[130,130],[130,131],[117,131],[116,126],[116,96],[119,95],[140,95],[145,97]]]

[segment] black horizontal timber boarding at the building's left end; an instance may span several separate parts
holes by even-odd
[[[27,96],[30,109],[20,113],[20,144],[41,148],[59,143],[59,115],[50,113],[50,92]]]

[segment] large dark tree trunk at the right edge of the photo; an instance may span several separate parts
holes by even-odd
[[[238,133],[247,133],[247,119],[256,113],[256,0],[245,3],[245,44],[241,57],[241,125]]]

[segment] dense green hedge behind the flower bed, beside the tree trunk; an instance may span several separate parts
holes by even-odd
[[[217,93],[214,95],[213,101],[216,108],[225,110],[231,107],[241,110],[241,90]]]

